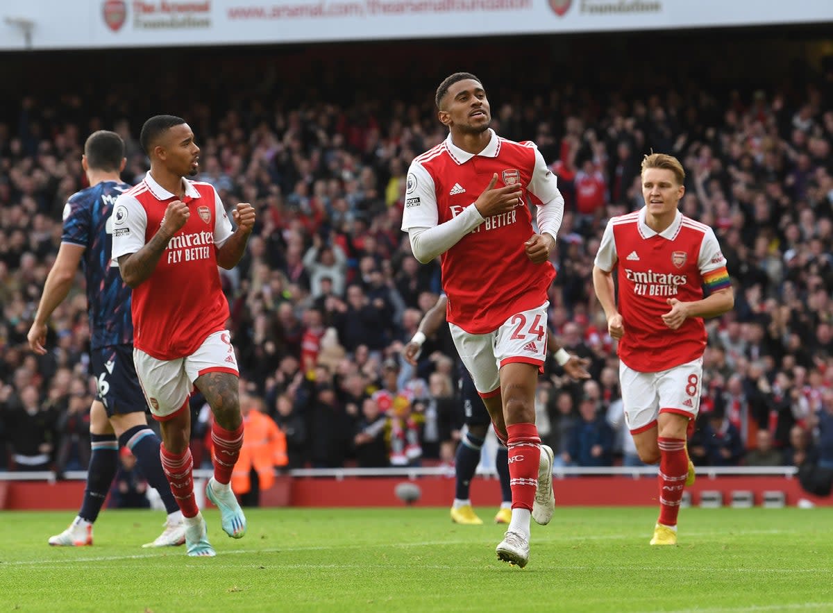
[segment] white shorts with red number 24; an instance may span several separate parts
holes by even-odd
[[[501,366],[512,362],[532,364],[543,369],[546,360],[546,309],[541,307],[516,313],[496,331],[469,334],[460,326],[449,323],[451,338],[477,393],[486,398],[501,390]]]

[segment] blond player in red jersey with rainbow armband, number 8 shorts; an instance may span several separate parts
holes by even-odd
[[[645,207],[607,223],[593,285],[619,341],[622,403],[636,451],[642,461],[660,463],[651,545],[676,545],[682,492],[694,481],[686,427],[700,407],[703,318],[729,311],[735,295],[715,233],[678,211],[686,192],[681,163],[653,153],[642,161],[641,177]]]

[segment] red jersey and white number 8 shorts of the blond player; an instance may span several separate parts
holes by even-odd
[[[625,418],[634,434],[650,429],[660,411],[696,416],[700,406],[706,327],[690,317],[676,330],[662,321],[669,298],[693,302],[730,287],[726,258],[710,227],[676,213],[657,233],[646,225],[646,208],[613,217],[601,238],[596,266],[617,266],[619,341]]]

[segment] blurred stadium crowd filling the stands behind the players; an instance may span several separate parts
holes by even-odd
[[[634,461],[591,269],[607,219],[642,206],[639,167],[652,149],[686,168],[684,212],[714,227],[736,291],[734,311],[707,322],[693,460],[800,465],[815,447],[833,466],[833,82],[741,91],[688,81],[605,98],[546,86],[490,96],[496,132],[535,141],[566,199],[549,323],[568,351],[590,358],[592,378],[568,381],[548,362],[536,406],[544,441],[562,464]],[[279,426],[286,466],[453,457],[462,410],[447,331],[426,342],[416,368],[400,358],[441,292],[438,263],[419,265],[399,229],[409,163],[446,136],[431,93],[272,104],[243,88],[178,112],[202,147],[197,178],[227,207],[258,211],[247,256],[222,278],[244,401]],[[91,104],[82,92],[24,97],[17,117],[0,119],[2,469],[87,461],[96,382],[81,283],[52,317],[47,356],[27,351],[26,333],[64,203],[85,187],[87,134],[122,135],[127,182],[147,171],[137,143],[146,117],[121,100],[91,119]],[[195,442],[210,430],[203,404],[192,397]]]

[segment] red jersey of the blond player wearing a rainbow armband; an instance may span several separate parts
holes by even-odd
[[[667,300],[692,302],[730,287],[726,258],[710,227],[676,213],[657,234],[647,227],[646,208],[613,217],[601,238],[596,266],[611,272],[618,264],[619,312],[625,336],[619,357],[635,371],[659,372],[696,360],[706,349],[701,317],[690,317],[676,330],[662,321]]]

